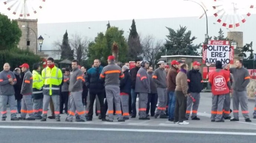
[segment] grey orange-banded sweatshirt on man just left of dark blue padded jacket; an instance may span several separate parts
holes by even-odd
[[[85,81],[83,72],[76,68],[70,73],[69,88],[70,92],[82,91],[83,82]]]

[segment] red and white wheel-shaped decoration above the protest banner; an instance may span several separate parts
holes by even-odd
[[[255,0],[213,0],[214,16],[223,27],[236,28],[251,15]],[[244,15],[244,16],[243,16]]]

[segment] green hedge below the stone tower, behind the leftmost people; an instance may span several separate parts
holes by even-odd
[[[12,49],[12,50],[0,50],[0,70],[3,70],[4,63],[9,63],[11,66],[11,71],[16,67],[19,67],[23,63],[28,63],[30,70],[32,71],[32,66],[34,63],[42,62],[40,56],[35,55],[28,50]],[[40,63],[42,64],[42,63]]]

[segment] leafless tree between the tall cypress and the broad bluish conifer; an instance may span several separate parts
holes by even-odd
[[[151,35],[147,35],[142,41],[142,57],[148,60],[152,67],[155,67],[157,55],[161,53],[161,49],[163,49],[161,41],[155,41]]]

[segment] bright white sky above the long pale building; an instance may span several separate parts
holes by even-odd
[[[11,19],[18,18],[8,11],[8,5],[0,0],[0,12]],[[15,0],[14,0],[15,1]],[[83,22],[106,20],[131,20],[171,17],[200,17],[203,9],[196,3],[187,0],[27,0],[38,1],[32,5],[42,9],[28,18],[38,19],[38,23]],[[194,0],[206,6],[207,14],[213,15],[214,0]],[[235,1],[238,5],[255,3],[255,0],[225,0],[224,5],[230,6]],[[242,3],[241,3],[242,1]],[[203,5],[202,4],[202,5]],[[254,8],[256,9],[256,8]],[[32,12],[33,13],[33,12]],[[255,10],[252,13],[256,13]]]

